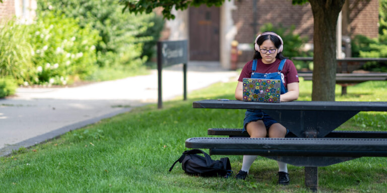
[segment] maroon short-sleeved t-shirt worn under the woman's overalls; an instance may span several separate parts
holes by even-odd
[[[276,73],[278,72],[278,67],[280,66],[281,60],[276,59],[273,63],[266,64],[262,62],[262,59],[257,59],[258,62],[256,64],[256,73]],[[252,67],[252,60],[247,62],[246,65],[244,65],[242,72],[239,75],[239,82],[243,82],[243,78],[251,78],[251,70]],[[287,88],[287,85],[290,83],[299,82],[298,80],[298,73],[296,70],[296,67],[294,66],[293,61],[290,59],[286,59],[284,68],[281,71],[281,77],[282,81],[284,83],[285,88]]]

